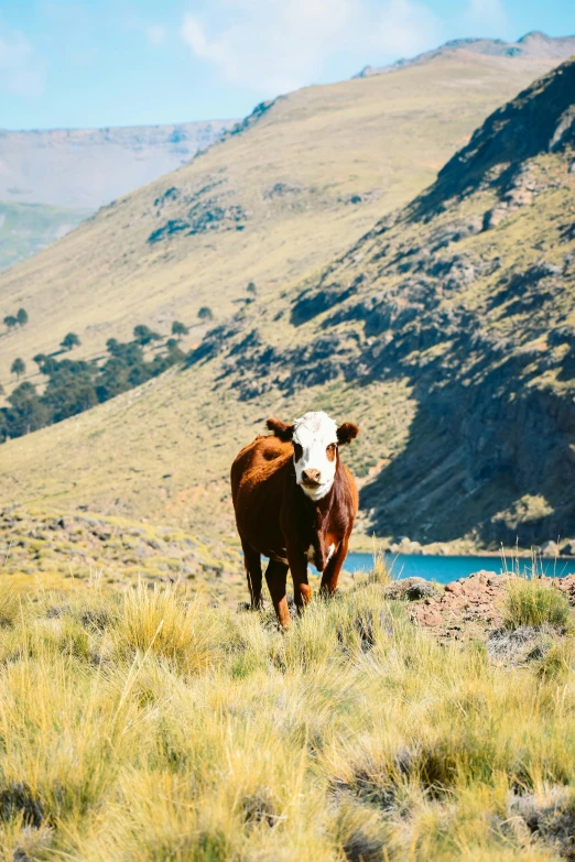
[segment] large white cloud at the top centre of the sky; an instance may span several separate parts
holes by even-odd
[[[185,14],[184,42],[226,80],[265,95],[312,83],[341,54],[358,70],[416,54],[440,30],[417,0],[211,0],[208,10]]]

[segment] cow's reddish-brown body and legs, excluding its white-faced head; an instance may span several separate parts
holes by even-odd
[[[307,563],[322,572],[322,590],[333,592],[347,554],[358,510],[354,478],[340,461],[332,489],[313,502],[295,481],[293,446],[276,436],[258,437],[231,466],[231,493],[253,608],[261,604],[261,555],[280,625],[290,623],[288,569],[299,609],[310,601]]]

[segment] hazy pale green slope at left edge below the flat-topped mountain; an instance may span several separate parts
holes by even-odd
[[[0,270],[61,239],[90,214],[44,204],[0,203]]]

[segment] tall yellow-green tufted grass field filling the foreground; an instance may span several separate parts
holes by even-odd
[[[565,646],[493,667],[479,644],[437,645],[377,582],[285,635],[177,587],[9,582],[6,862],[560,858],[561,830],[541,819],[535,840],[517,804],[555,800],[553,822],[572,823]]]

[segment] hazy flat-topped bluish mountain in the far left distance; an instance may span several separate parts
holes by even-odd
[[[104,204],[174,171],[234,120],[110,129],[0,130],[0,269]]]

